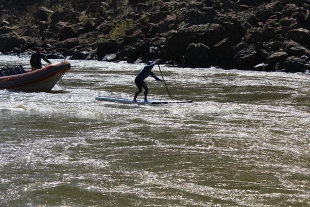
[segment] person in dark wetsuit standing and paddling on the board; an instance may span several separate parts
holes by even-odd
[[[150,75],[152,77],[155,78],[155,80],[161,81],[163,82],[164,80],[159,79],[158,77],[155,76],[155,74],[151,71],[153,69],[153,67],[159,63],[159,59],[156,60],[155,62],[148,62],[148,65],[145,66],[136,76],[136,78],[134,79],[134,83],[136,84],[138,91],[136,92],[136,94],[134,95],[133,101],[136,102],[138,95],[141,93],[142,88],[144,88],[144,101],[148,101],[148,92],[149,92],[149,88],[148,86],[145,84],[144,79],[146,79],[147,77],[149,77]]]

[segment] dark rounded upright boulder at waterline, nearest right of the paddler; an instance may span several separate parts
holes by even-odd
[[[202,43],[191,43],[183,57],[183,67],[204,68],[210,65],[211,49]]]

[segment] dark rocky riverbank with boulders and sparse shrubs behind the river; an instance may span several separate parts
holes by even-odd
[[[310,0],[0,0],[0,52],[310,70]]]

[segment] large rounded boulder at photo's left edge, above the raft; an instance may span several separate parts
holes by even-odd
[[[21,38],[15,33],[0,35],[0,52],[12,51],[14,47],[20,47],[21,43]]]

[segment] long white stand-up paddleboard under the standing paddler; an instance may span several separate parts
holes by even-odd
[[[97,101],[105,101],[105,102],[118,102],[123,104],[183,104],[183,103],[193,103],[193,101],[159,101],[159,100],[148,100],[142,101],[137,100],[134,102],[132,99],[122,99],[122,98],[114,98],[114,97],[96,97]]]

